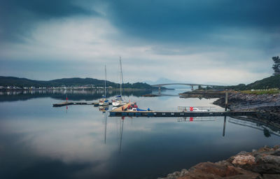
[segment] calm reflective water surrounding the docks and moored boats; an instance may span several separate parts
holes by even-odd
[[[214,106],[215,101],[135,95],[127,94],[125,99],[153,110]],[[68,94],[76,101],[94,101],[98,96]],[[279,136],[265,135],[265,127],[231,117],[223,136],[224,117],[122,120],[106,118],[93,106],[52,108],[64,98],[64,92],[0,95],[0,178],[157,178],[199,162],[227,159],[241,150],[280,143]]]

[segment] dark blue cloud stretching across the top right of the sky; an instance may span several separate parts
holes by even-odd
[[[109,18],[125,34],[149,41],[218,42],[223,29],[276,31],[279,1],[112,1]]]

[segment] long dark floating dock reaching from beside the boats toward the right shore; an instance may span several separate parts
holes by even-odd
[[[121,108],[120,108],[121,109]],[[255,115],[255,111],[225,111],[225,112],[179,112],[179,111],[129,111],[111,110],[110,117],[211,117],[211,116],[247,116]]]

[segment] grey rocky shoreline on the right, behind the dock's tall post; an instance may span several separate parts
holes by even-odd
[[[195,90],[179,94],[181,98],[213,99],[214,104],[225,108],[225,91]],[[230,110],[255,110],[254,118],[278,122],[280,124],[280,94],[245,94],[242,92],[228,92],[228,109]]]

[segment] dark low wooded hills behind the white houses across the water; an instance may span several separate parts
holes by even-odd
[[[0,76],[0,86],[17,87],[61,87],[61,86],[83,86],[94,85],[95,87],[104,87],[104,80],[94,78],[62,78],[57,80],[29,80],[27,78]],[[106,85],[111,87],[120,87],[119,84],[106,80]],[[137,88],[151,90],[153,87],[147,83],[125,83],[124,88]]]

